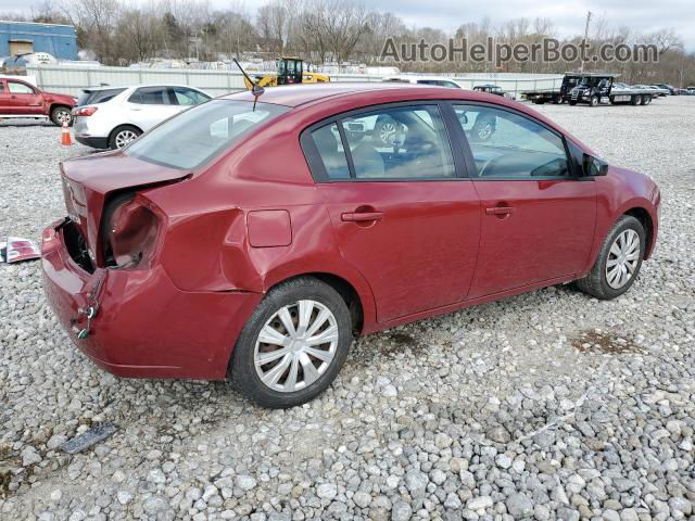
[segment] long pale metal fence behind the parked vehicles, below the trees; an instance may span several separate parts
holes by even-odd
[[[27,75],[35,76],[38,87],[51,92],[79,96],[87,87],[128,86],[147,84],[189,85],[211,96],[243,90],[243,76],[239,71],[201,71],[176,68],[90,67],[75,65],[27,65]],[[525,92],[558,89],[561,75],[543,74],[469,74],[447,76],[463,88],[494,84],[520,99]],[[331,74],[331,81],[381,81],[383,76],[367,74]]]

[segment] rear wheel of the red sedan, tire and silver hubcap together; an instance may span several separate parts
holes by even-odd
[[[351,344],[345,301],[330,285],[302,277],[261,301],[237,340],[229,373],[258,405],[293,407],[330,385]]]

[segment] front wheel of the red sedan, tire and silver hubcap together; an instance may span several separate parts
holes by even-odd
[[[577,281],[577,287],[601,300],[622,295],[640,274],[645,249],[646,232],[642,223],[623,215],[606,237],[594,267]]]

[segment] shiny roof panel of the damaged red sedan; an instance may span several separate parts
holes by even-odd
[[[463,90],[463,89],[442,89],[442,87],[424,85],[424,84],[406,84],[402,81],[367,81],[367,82],[326,82],[312,85],[285,85],[279,87],[270,87],[258,98],[260,102],[273,103],[285,106],[299,106],[305,103],[324,100],[327,98],[339,98],[344,96],[367,93],[370,91],[392,91],[394,98],[401,93],[413,93],[414,89],[422,91],[422,93],[442,93],[442,90]],[[442,96],[445,98],[445,96]],[[254,97],[251,91],[235,92],[232,94],[223,96],[218,99],[253,101]]]

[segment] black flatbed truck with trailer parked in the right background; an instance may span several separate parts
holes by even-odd
[[[614,84],[618,74],[609,73],[566,73],[559,89],[522,92],[527,100],[543,103],[584,103],[597,106],[601,103],[648,105],[655,93],[623,84]],[[656,94],[658,96],[658,94]]]

